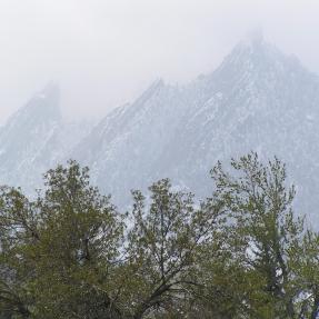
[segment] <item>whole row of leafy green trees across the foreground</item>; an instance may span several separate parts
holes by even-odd
[[[319,318],[319,236],[277,158],[211,170],[197,202],[168,179],[124,213],[69,161],[37,199],[0,193],[1,319]]]

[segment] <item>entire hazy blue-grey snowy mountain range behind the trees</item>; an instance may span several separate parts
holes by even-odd
[[[37,96],[0,131],[1,182],[30,187],[39,170],[74,158],[117,203],[165,177],[206,196],[217,160],[253,150],[287,162],[302,211],[319,226],[319,77],[261,37],[240,42],[216,71],[188,86],[156,81],[72,142],[61,142],[53,92]]]

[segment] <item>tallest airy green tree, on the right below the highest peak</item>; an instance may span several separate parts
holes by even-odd
[[[229,248],[239,256],[247,285],[249,318],[297,318],[300,298],[291,267],[302,240],[303,222],[292,211],[295,188],[286,186],[286,168],[277,158],[267,166],[256,153],[232,160],[233,175],[218,163],[211,171],[216,197],[229,216]]]

